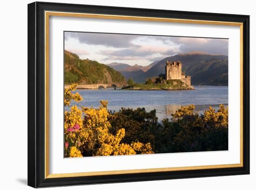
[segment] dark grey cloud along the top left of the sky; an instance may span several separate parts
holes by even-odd
[[[65,40],[76,38],[81,43],[89,45],[103,45],[111,47],[129,47],[131,41],[138,38],[136,35],[108,34],[108,33],[74,33],[65,32]]]

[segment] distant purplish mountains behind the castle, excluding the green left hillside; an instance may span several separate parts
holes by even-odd
[[[191,76],[192,85],[228,85],[228,56],[226,55],[187,52],[166,57],[144,67],[121,63],[115,63],[115,67],[111,64],[108,66],[121,72],[126,79],[132,78],[136,83],[142,83],[148,78],[165,73],[166,60],[181,61],[182,70],[186,75]]]

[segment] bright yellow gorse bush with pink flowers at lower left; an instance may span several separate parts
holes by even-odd
[[[72,100],[82,100],[78,92],[72,93],[75,88],[76,84],[65,89],[65,106],[70,105]],[[111,124],[108,121],[108,101],[101,100],[100,103],[98,109],[82,107],[80,110],[74,105],[70,111],[65,111],[65,157],[154,153],[150,143],[120,143],[125,137],[125,129],[121,128],[115,135],[109,132]],[[82,112],[84,113],[83,119]]]

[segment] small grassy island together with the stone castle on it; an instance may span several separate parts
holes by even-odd
[[[181,61],[166,61],[165,74],[146,79],[144,84],[136,84],[128,79],[128,86],[123,90],[194,90],[191,77],[182,72]]]

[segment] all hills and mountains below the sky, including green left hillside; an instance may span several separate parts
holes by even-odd
[[[191,76],[192,85],[228,85],[228,56],[205,52],[180,53],[154,61],[148,66],[125,63],[104,65],[65,51],[65,84],[120,83],[129,78],[136,83],[165,73],[166,60],[181,61],[182,71]]]

